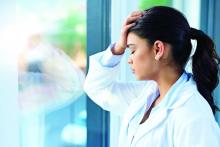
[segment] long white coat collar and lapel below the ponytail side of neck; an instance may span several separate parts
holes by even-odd
[[[141,139],[142,136],[163,123],[172,109],[181,106],[189,100],[194,90],[196,90],[196,85],[192,80],[191,74],[184,72],[169,89],[161,103],[152,109],[148,120],[140,125],[133,140],[133,144]]]

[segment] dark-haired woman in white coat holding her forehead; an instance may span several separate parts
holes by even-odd
[[[194,54],[191,39],[197,41]],[[116,81],[126,47],[141,82]],[[191,54],[193,74],[184,70]],[[90,57],[85,91],[122,115],[119,147],[220,147],[212,96],[219,61],[206,34],[177,10],[157,6],[132,13],[119,41]]]

